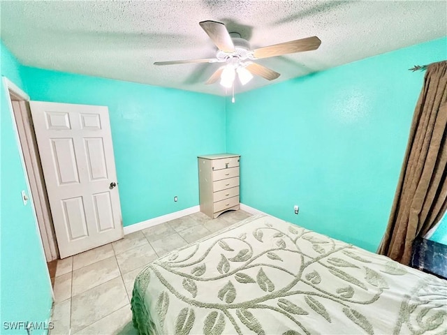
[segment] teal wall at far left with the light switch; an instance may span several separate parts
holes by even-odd
[[[24,89],[21,66],[0,43],[1,75]],[[51,284],[41,239],[30,204],[24,206],[20,192],[27,189],[17,140],[3,81],[0,87],[1,245],[0,333],[25,334],[3,329],[3,322],[47,321],[52,305]],[[33,334],[43,334],[35,330]]]

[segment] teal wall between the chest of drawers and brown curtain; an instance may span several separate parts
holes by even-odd
[[[241,202],[376,251],[423,82],[407,69],[446,50],[441,38],[227,99]]]

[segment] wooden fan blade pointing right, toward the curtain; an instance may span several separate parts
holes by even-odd
[[[307,37],[300,40],[289,40],[285,43],[270,45],[268,47],[260,47],[253,50],[255,58],[268,58],[281,56],[281,54],[293,54],[294,52],[303,52],[316,50],[321,45],[321,40],[316,37]]]

